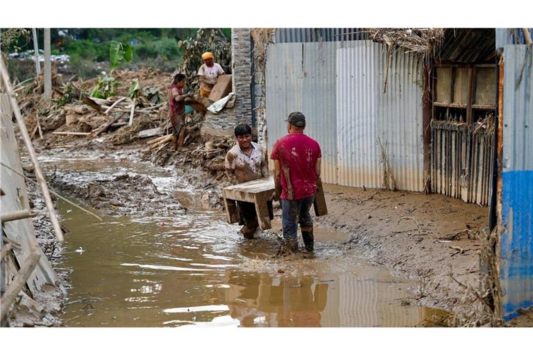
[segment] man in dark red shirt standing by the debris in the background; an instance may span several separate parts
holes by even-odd
[[[194,96],[193,94],[183,94],[183,88],[186,84],[185,75],[178,73],[172,78],[172,84],[169,88],[169,113],[170,123],[174,128],[172,144],[175,150],[178,150],[178,146],[183,146],[185,142],[185,103]]]

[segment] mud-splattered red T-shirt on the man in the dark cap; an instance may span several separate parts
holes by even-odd
[[[270,156],[280,161],[281,187],[280,198],[300,200],[316,193],[316,159],[322,157],[319,144],[303,133],[290,133],[276,141]],[[293,190],[292,198],[287,191],[285,172],[289,171],[289,181]]]

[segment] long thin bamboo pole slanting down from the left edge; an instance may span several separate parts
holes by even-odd
[[[3,83],[6,86],[6,93],[9,96],[13,113],[15,114],[15,119],[17,119],[17,123],[19,125],[20,134],[22,135],[22,139],[24,139],[24,144],[26,144],[26,148],[28,149],[31,162],[33,163],[33,168],[35,169],[35,176],[37,177],[37,182],[39,182],[39,185],[41,187],[42,196],[44,198],[44,203],[46,204],[46,209],[48,209],[50,221],[53,225],[53,230],[54,232],[56,232],[56,237],[58,238],[58,240],[64,241],[65,238],[63,237],[63,233],[61,232],[58,217],[56,216],[56,210],[53,208],[50,192],[48,190],[48,186],[46,186],[46,180],[44,180],[44,177],[42,175],[41,166],[39,165],[39,161],[37,160],[37,154],[35,153],[35,149],[33,149],[33,144],[31,143],[30,136],[28,135],[28,130],[26,130],[26,123],[24,122],[24,118],[20,113],[19,104],[15,99],[15,93],[13,92],[13,89],[11,87],[11,81],[9,79],[8,70],[6,69],[6,64],[4,64],[3,62],[3,58],[0,58],[0,72],[3,79]]]

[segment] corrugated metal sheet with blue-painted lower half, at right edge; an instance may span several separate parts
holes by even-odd
[[[504,58],[500,282],[509,319],[533,306],[533,54],[505,45]]]

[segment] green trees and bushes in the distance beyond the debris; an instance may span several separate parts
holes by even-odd
[[[2,49],[11,51],[33,50],[31,28],[3,29]],[[202,29],[211,33],[211,29]],[[215,29],[227,42],[230,42],[230,28]],[[152,67],[171,73],[183,67],[183,46],[178,42],[195,39],[198,28],[52,28],[51,42],[53,54],[70,55],[69,69],[81,78],[94,78],[105,75],[112,69],[110,50],[112,42],[130,46],[132,60],[122,62],[117,68]],[[43,31],[37,28],[37,37],[42,48]],[[206,38],[207,40],[208,38]],[[20,68],[20,70],[18,70]],[[19,79],[26,78],[22,63],[13,64],[13,73]],[[28,66],[31,75],[31,66]]]

